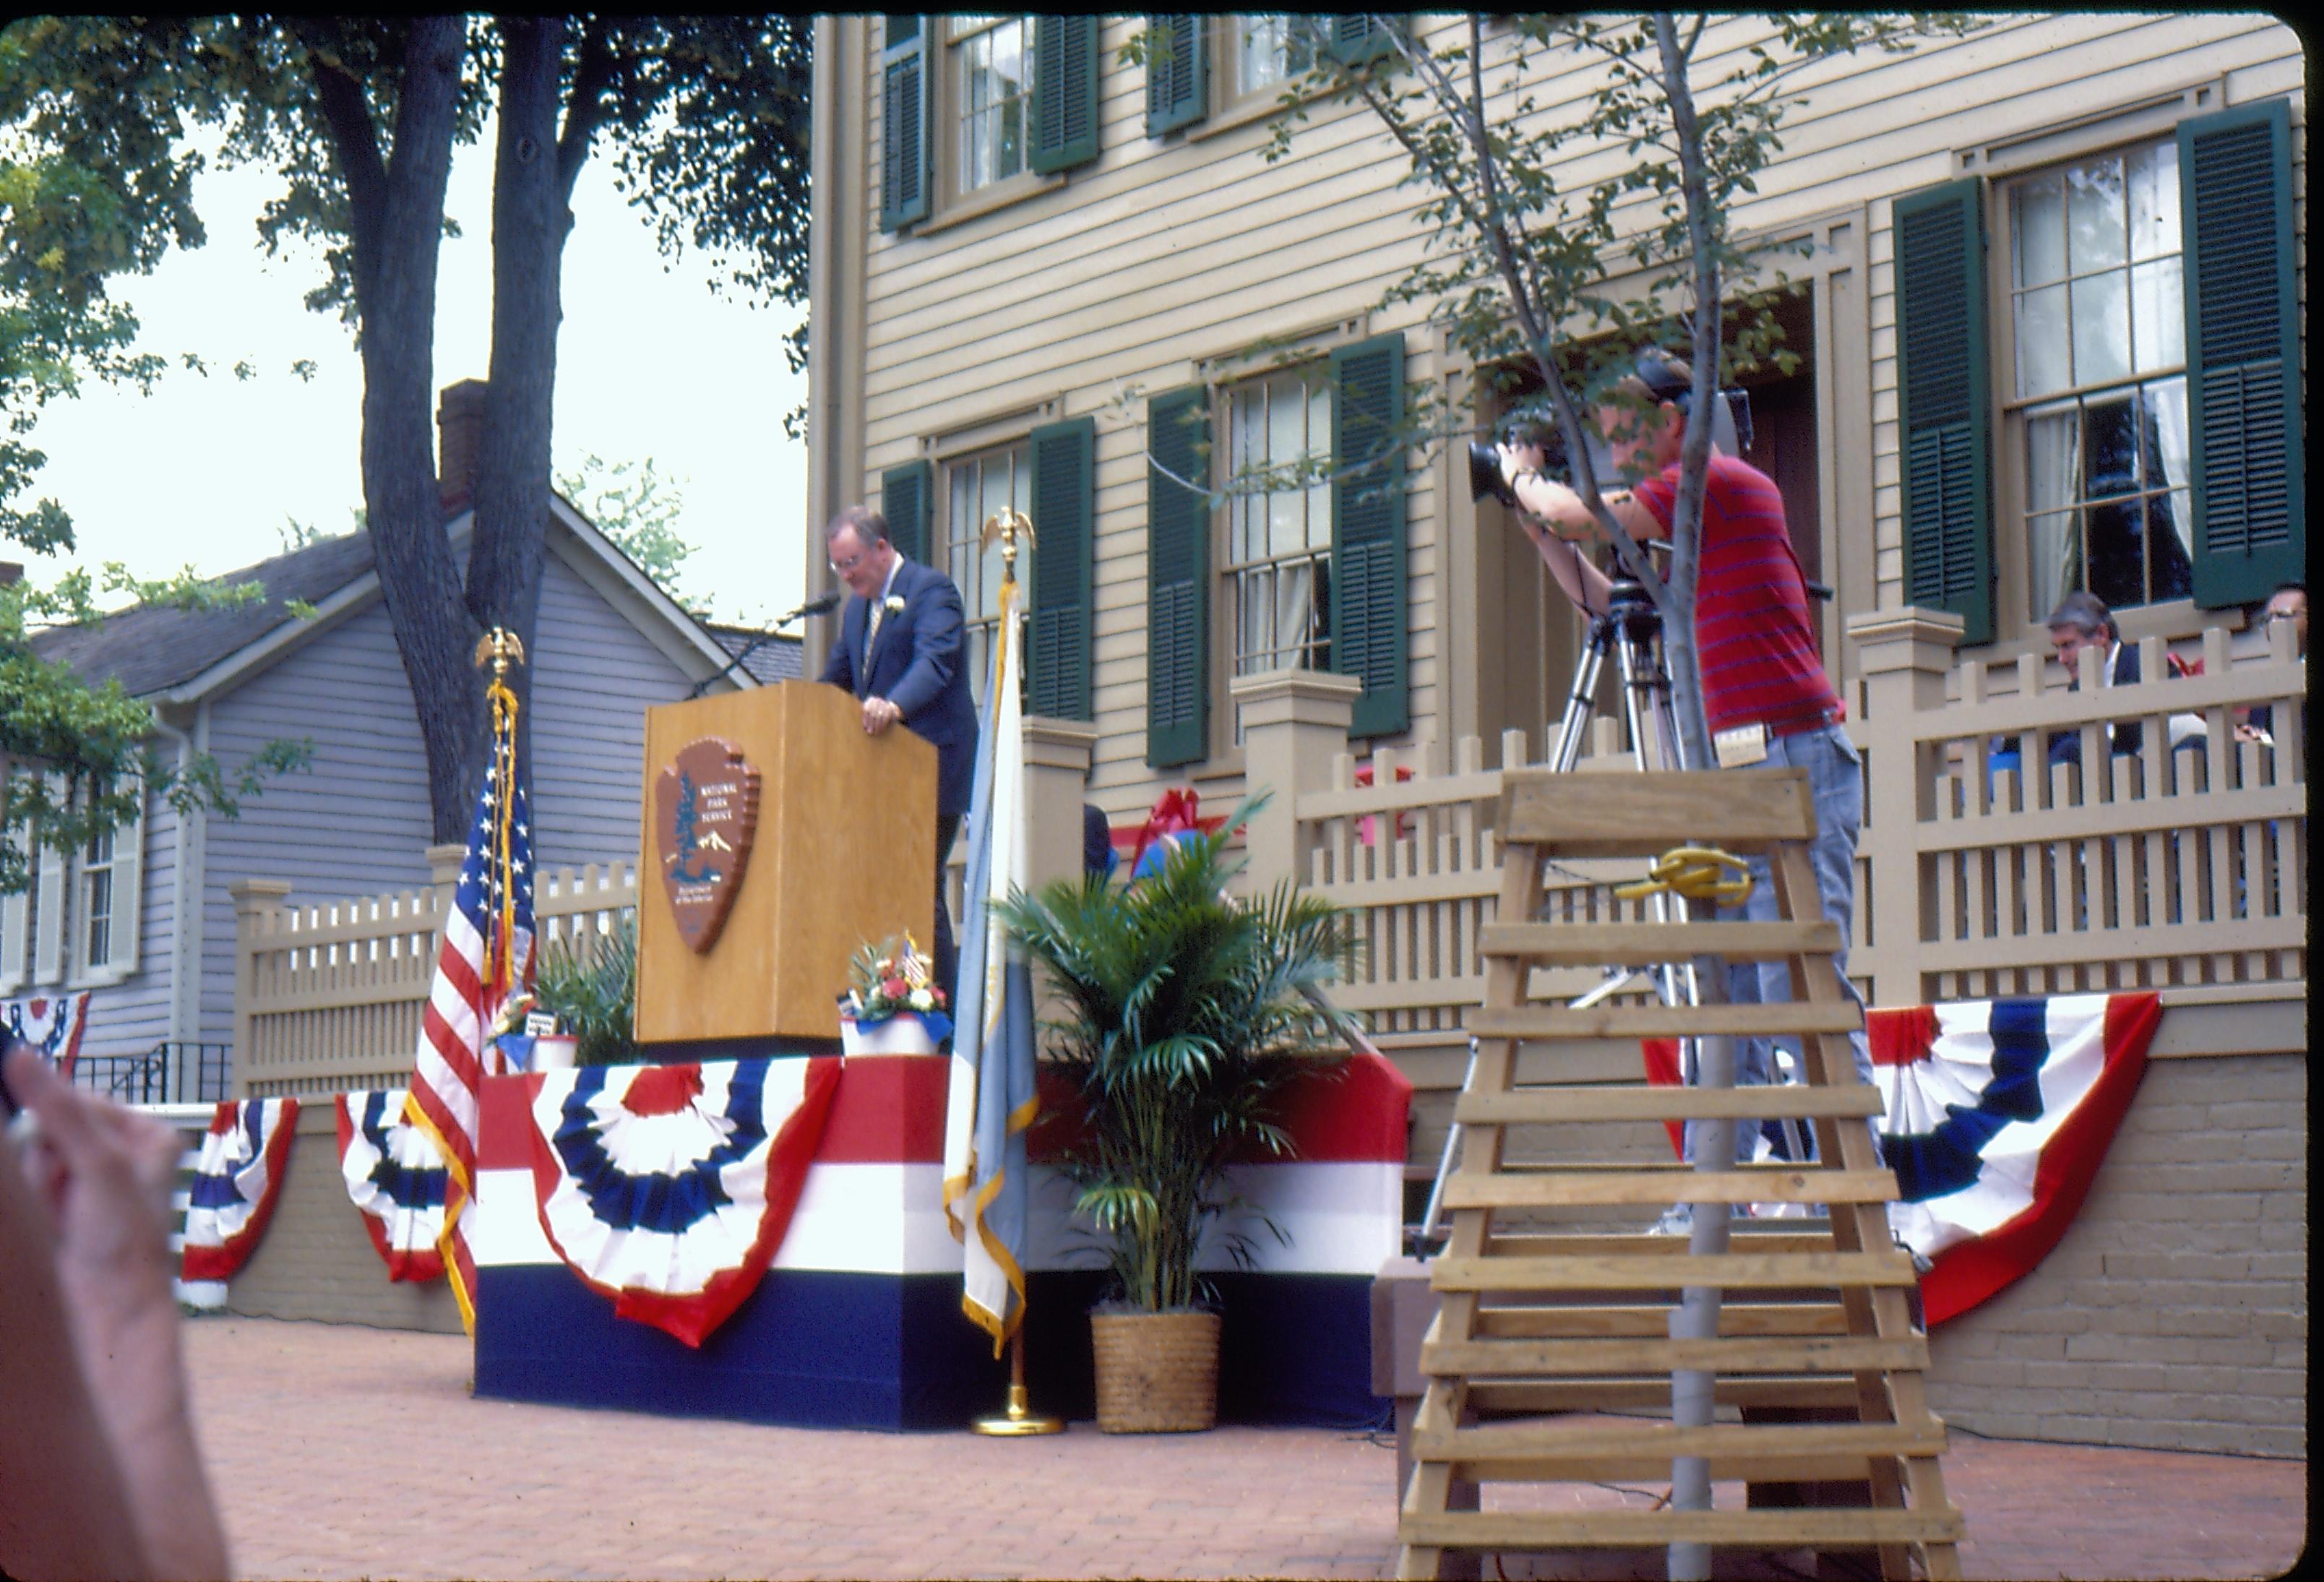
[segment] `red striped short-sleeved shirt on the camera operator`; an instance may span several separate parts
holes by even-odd
[[[1634,490],[1662,530],[1678,504],[1678,465]],[[1783,525],[1783,495],[1757,467],[1713,455],[1703,479],[1703,558],[1694,648],[1713,732],[1766,725],[1783,736],[1841,718],[1815,653],[1808,588]]]

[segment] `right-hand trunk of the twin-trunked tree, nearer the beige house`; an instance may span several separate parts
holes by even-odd
[[[548,532],[548,437],[558,374],[558,265],[572,211],[558,179],[558,74],[565,23],[500,23],[500,149],[493,170],[493,372],[476,453],[476,537],[467,555],[467,609],[481,627],[507,627],[528,662],[511,671],[518,753],[530,753],[530,702]]]

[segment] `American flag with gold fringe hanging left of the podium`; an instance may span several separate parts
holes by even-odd
[[[486,771],[467,860],[444,920],[435,985],[421,1015],[421,1043],[404,1117],[435,1134],[451,1173],[444,1192],[444,1273],[460,1319],[476,1331],[476,1261],[469,1229],[476,1203],[476,1094],[495,1073],[493,1024],[509,999],[532,987],[532,813],[523,776],[502,804],[500,767]],[[507,871],[495,848],[507,853]]]

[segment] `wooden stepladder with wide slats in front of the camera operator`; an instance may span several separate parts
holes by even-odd
[[[1896,1196],[1896,1178],[1880,1166],[1868,1129],[1880,1094],[1857,1078],[1848,1043],[1864,1013],[1834,973],[1841,936],[1820,915],[1808,857],[1815,813],[1806,774],[1518,769],[1504,774],[1499,832],[1499,922],[1478,934],[1485,1004],[1469,1022],[1478,1055],[1455,1108],[1464,1127],[1462,1164],[1446,1192],[1452,1238],[1429,1275],[1441,1306],[1420,1352],[1427,1392],[1413,1422],[1397,1575],[1434,1577],[1448,1549],[1615,1549],[1673,1540],[1759,1552],[1875,1549],[1885,1577],[1908,1577],[1917,1549],[1929,1577],[1961,1575],[1954,1552],[1961,1512],[1948,1503],[1938,1468],[1945,1424],[1929,1412],[1922,1380],[1929,1340],[1908,1306],[1913,1261],[1887,1229],[1885,1203]],[[1652,860],[1673,846],[1766,855],[1787,920],[1534,922],[1545,860]],[[1529,1004],[1536,966],[1636,966],[1694,955],[1785,959],[1794,999],[1583,1011]],[[1724,1092],[1513,1083],[1520,1043],[1571,1050],[1571,1041],[1701,1034],[1799,1034],[1806,1080]],[[1597,1124],[1606,1138],[1606,1122],[1690,1117],[1806,1120],[1820,1162],[1694,1171],[1676,1162],[1504,1159],[1511,1127]],[[1497,1213],[1613,1206],[1643,1222],[1669,1203],[1824,1203],[1829,1229],[1813,1220],[1738,1220],[1729,1252],[1717,1257],[1690,1254],[1685,1236],[1494,1229]],[[1683,1285],[1722,1287],[1717,1338],[1669,1338]],[[1794,1422],[1680,1426],[1669,1419],[1673,1371],[1715,1373],[1720,1408],[1773,1408],[1759,1415]],[[1871,1503],[1450,1508],[1455,1484],[1669,1480],[1671,1457],[1706,1457],[1713,1480],[1855,1482],[1859,1496],[1868,1484]]]

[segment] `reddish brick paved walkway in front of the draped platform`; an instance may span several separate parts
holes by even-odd
[[[251,1577],[1380,1577],[1394,1563],[1394,1452],[1360,1433],[762,1429],[474,1401],[453,1336],[211,1317],[186,1347]],[[1971,1577],[2273,1577],[2305,1545],[2303,1461],[1957,1436],[1945,1475]]]

